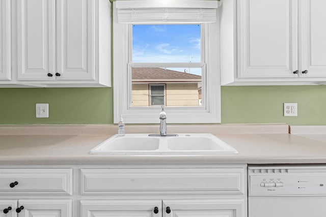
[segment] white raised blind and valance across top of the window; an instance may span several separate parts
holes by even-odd
[[[216,22],[218,1],[213,0],[119,0],[119,23]]]

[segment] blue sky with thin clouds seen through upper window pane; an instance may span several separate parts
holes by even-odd
[[[133,25],[134,63],[200,63],[200,25]]]

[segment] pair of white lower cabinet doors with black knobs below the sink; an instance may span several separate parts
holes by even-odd
[[[244,216],[236,200],[82,200],[82,217],[235,217]]]

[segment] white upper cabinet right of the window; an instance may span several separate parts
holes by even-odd
[[[325,7],[322,0],[224,1],[222,84],[326,82]]]

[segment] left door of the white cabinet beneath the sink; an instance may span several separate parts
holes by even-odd
[[[81,200],[81,217],[159,217],[161,200]]]

